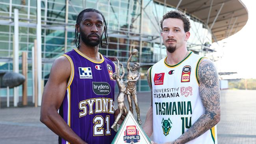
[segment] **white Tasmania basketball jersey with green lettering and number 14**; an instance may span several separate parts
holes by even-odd
[[[197,75],[198,64],[204,57],[190,52],[176,65],[168,65],[166,58],[150,68],[153,133],[157,143],[180,137],[205,111]],[[217,144],[216,126],[187,144]]]

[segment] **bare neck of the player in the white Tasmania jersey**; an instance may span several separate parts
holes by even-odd
[[[186,47],[177,48],[173,53],[170,53],[166,50],[166,53],[167,53],[168,65],[176,65],[187,56],[187,48]]]

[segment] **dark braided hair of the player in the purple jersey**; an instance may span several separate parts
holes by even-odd
[[[82,20],[82,15],[83,15],[83,13],[86,13],[86,12],[96,12],[96,13],[98,13],[102,16],[103,22],[104,22],[103,25],[104,25],[104,35],[105,35],[105,39],[106,39],[106,44],[102,44],[102,39],[101,39],[100,46],[101,47],[107,46],[108,45],[107,24],[106,24],[106,20],[105,20],[104,15],[100,11],[98,11],[97,9],[84,9],[83,11],[81,11],[78,14],[78,16],[76,18],[76,24],[80,25],[80,22]],[[80,47],[80,33],[78,32],[77,27],[75,28],[75,43],[76,43],[76,47],[79,48]]]

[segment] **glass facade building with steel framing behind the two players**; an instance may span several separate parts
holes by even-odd
[[[139,51],[132,59],[141,64],[137,90],[148,91],[148,68],[166,56],[159,22],[167,11],[175,9],[154,0],[41,0],[42,79],[45,83],[54,59],[75,48],[76,17],[85,8],[98,9],[106,18],[109,44],[100,48],[101,54],[112,61],[117,57],[126,65],[130,50]],[[28,52],[28,96],[31,96],[36,0],[0,0],[0,72],[13,71],[14,9],[19,9],[19,71],[22,71],[21,53]],[[204,55],[205,48],[211,44],[211,32],[198,18],[186,14],[191,22],[188,49]],[[22,89],[19,90],[21,96]],[[0,96],[6,96],[5,88],[1,88]]]

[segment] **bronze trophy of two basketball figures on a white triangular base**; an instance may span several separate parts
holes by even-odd
[[[150,144],[150,139],[146,135],[146,133],[141,128],[141,118],[139,114],[139,105],[138,105],[138,98],[137,98],[137,81],[141,77],[141,73],[138,72],[140,65],[139,63],[134,63],[132,68],[130,68],[130,60],[132,59],[132,55],[138,54],[138,50],[133,49],[132,53],[130,54],[128,61],[127,61],[127,80],[124,81],[124,66],[119,60],[116,58],[117,61],[117,72],[113,74],[113,79],[117,82],[119,88],[119,94],[117,96],[117,103],[119,108],[119,114],[115,119],[114,124],[111,128],[117,131],[117,123],[119,122],[122,114],[127,113],[127,108],[124,103],[125,94],[128,98],[129,109],[130,111],[126,115],[124,121],[122,122],[115,138],[111,142],[111,144]],[[122,75],[120,76],[120,65],[122,66]],[[133,115],[133,108],[132,108],[132,100],[135,103],[135,109],[137,112],[137,121]]]

